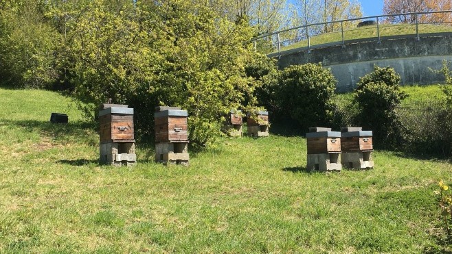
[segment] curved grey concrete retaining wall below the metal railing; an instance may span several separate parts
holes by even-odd
[[[430,34],[416,40],[414,36],[383,38],[377,41],[355,40],[342,45],[290,51],[275,56],[278,66],[321,62],[331,69],[338,80],[337,91],[356,87],[359,77],[373,71],[374,64],[392,66],[402,78],[402,84],[435,84],[444,81],[439,70],[442,60],[452,61],[452,34]]]

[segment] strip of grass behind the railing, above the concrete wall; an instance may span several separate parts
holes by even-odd
[[[452,32],[451,25],[430,25],[430,24],[420,24],[418,25],[419,34],[430,34],[430,33],[440,33],[440,32]],[[381,37],[384,36],[396,36],[396,35],[416,35],[416,25],[402,24],[402,25],[380,25],[379,33]],[[357,40],[363,38],[377,38],[377,27],[376,25],[357,27],[352,29],[344,30],[344,40]],[[342,34],[341,31],[331,32],[328,34],[320,34],[317,36],[312,36],[310,38],[310,46],[322,45],[330,42],[341,42]],[[302,40],[300,42],[293,43],[286,47],[282,47],[282,51],[289,49],[297,49],[302,47],[308,47],[308,41]],[[277,50],[273,50],[273,53]]]

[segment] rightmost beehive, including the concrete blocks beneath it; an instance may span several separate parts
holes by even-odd
[[[341,129],[341,162],[345,168],[373,168],[372,131],[363,131],[361,127]]]

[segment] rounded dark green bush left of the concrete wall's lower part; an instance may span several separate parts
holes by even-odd
[[[269,77],[261,94],[267,107],[279,117],[300,123],[303,129],[328,124],[332,116],[332,95],[336,80],[321,64],[289,66]]]

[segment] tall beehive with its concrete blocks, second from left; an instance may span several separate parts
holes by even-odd
[[[156,107],[155,161],[188,165],[188,112],[180,107]]]

